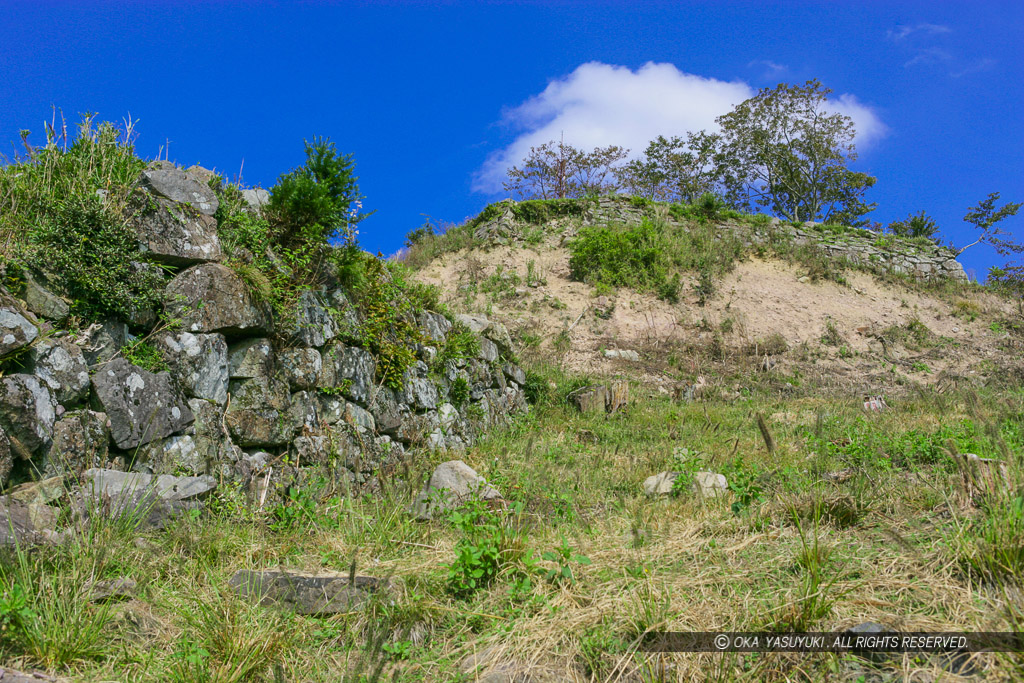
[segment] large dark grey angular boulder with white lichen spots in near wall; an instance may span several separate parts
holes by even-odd
[[[170,436],[191,424],[191,411],[167,373],[154,374],[116,358],[93,375],[92,387],[121,450]]]

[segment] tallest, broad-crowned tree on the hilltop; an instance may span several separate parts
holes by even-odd
[[[865,222],[876,205],[863,196],[876,178],[848,168],[857,159],[853,120],[827,112],[830,92],[816,80],[780,83],[717,119],[728,201],[788,220]]]

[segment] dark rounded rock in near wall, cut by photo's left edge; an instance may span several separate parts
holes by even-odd
[[[0,377],[0,427],[24,460],[50,447],[56,400],[34,375]]]

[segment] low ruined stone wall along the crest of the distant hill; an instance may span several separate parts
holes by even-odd
[[[628,197],[602,197],[588,212],[585,223],[639,223],[650,211],[646,207],[635,206]],[[667,211],[663,211],[660,217],[674,222]],[[772,218],[764,226],[734,221],[724,222],[721,226],[751,245],[791,241],[798,246],[817,247],[831,258],[842,258],[880,272],[909,274],[922,280],[967,280],[964,266],[956,260],[956,252],[936,244],[919,244],[870,230],[834,228],[813,222],[797,226],[783,223],[778,218]]]

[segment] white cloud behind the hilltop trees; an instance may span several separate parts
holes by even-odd
[[[502,123],[521,132],[487,158],[473,189],[501,191],[506,170],[526,158],[530,147],[562,136],[583,150],[618,144],[639,157],[658,135],[717,129],[717,117],[754,94],[742,81],[686,74],[671,63],[648,62],[636,71],[598,61],[582,65],[505,113]],[[829,109],[853,119],[858,145],[886,131],[874,112],[851,94],[830,100]]]

